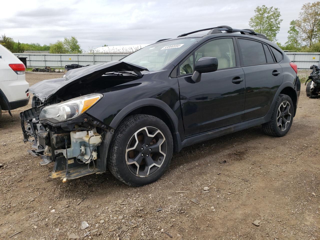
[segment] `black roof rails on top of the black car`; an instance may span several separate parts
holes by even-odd
[[[193,33],[202,32],[202,31],[206,31],[206,30],[210,30],[207,34],[222,33],[222,31],[225,31],[227,33],[240,32],[241,34],[244,34],[244,35],[256,36],[256,37],[260,37],[260,38],[269,40],[265,35],[263,35],[261,33],[256,33],[252,29],[233,29],[229,26],[218,26],[218,27],[214,27],[214,28],[204,28],[204,29],[193,31],[193,32],[181,34],[178,37],[184,37],[184,36],[187,36],[187,35],[190,35]]]

